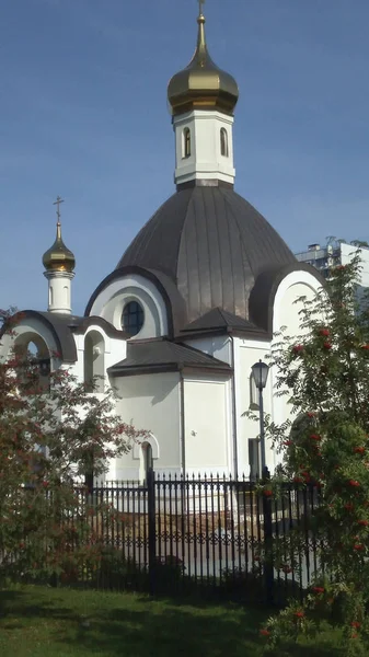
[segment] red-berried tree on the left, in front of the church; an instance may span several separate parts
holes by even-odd
[[[5,330],[14,332],[3,313]],[[122,422],[115,395],[94,394],[67,369],[45,385],[37,359],[14,350],[0,362],[0,585],[7,579],[78,577],[99,561],[122,515],[84,483],[148,433]]]

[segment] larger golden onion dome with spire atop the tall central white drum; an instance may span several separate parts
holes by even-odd
[[[220,110],[233,114],[239,100],[238,84],[232,76],[216,66],[208,54],[203,13],[197,23],[195,55],[187,68],[173,76],[168,87],[172,114],[184,114],[191,110]]]

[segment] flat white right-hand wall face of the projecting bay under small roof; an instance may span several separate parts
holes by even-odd
[[[232,470],[230,382],[200,376],[184,380],[186,473]]]

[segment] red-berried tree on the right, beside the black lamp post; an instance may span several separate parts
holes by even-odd
[[[282,454],[268,489],[280,480],[319,491],[309,517],[318,548],[318,572],[303,604],[270,619],[267,644],[319,631],[338,618],[346,655],[369,647],[369,304],[359,286],[360,255],[331,272],[315,299],[302,299],[299,338],[276,337],[273,367],[277,394],[289,403],[282,426],[266,418],[266,431]],[[276,539],[274,557],[298,567],[305,550],[299,528]],[[285,541],[285,542],[284,542]],[[277,563],[278,566],[278,563]],[[339,614],[337,615],[337,610]],[[367,653],[364,653],[367,654]]]

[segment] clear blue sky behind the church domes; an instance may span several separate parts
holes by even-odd
[[[293,251],[369,239],[368,0],[207,0],[215,61],[240,87],[237,191]],[[62,230],[85,303],[174,192],[166,106],[196,0],[3,0],[0,307],[45,309]]]

